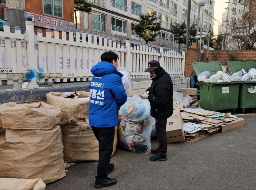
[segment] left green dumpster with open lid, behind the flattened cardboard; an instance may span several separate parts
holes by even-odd
[[[204,71],[209,71],[210,76],[222,71],[219,61],[193,62],[192,66],[196,76]],[[238,108],[240,84],[241,82],[198,82],[201,108],[211,111],[233,109],[235,113]]]

